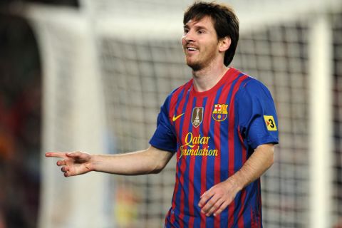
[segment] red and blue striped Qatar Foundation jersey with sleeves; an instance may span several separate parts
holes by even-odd
[[[165,227],[262,227],[260,179],[238,192],[217,217],[206,217],[197,204],[205,191],[237,172],[257,146],[278,143],[277,122],[266,86],[235,68],[210,90],[198,92],[192,80],[174,90],[150,140],[177,156]]]

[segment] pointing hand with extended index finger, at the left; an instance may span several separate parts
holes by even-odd
[[[46,157],[60,157],[57,165],[61,166],[64,177],[71,177],[90,172],[91,155],[86,152],[46,152]]]

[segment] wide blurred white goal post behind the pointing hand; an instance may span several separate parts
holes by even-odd
[[[108,152],[102,84],[87,21],[71,9],[33,5],[29,19],[43,68],[43,145],[38,227],[111,227],[108,176],[64,178],[48,151]],[[108,201],[109,199],[109,201]],[[95,214],[96,216],[91,216]],[[85,219],[91,217],[91,219]]]

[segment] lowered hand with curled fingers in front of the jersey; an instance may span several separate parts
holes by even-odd
[[[228,179],[204,192],[198,206],[201,207],[201,212],[206,216],[210,216],[213,213],[214,216],[217,216],[234,200],[237,192],[239,190],[234,185],[234,182]]]

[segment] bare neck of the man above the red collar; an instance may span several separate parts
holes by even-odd
[[[229,68],[220,64],[219,66],[208,66],[199,71],[192,71],[194,86],[198,92],[204,92],[213,88],[224,76]]]

